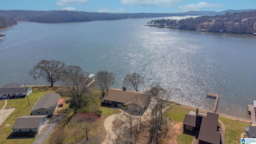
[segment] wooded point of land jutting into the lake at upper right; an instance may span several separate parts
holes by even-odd
[[[208,32],[253,34],[256,32],[256,11],[226,12],[224,15],[191,17],[182,20],[151,20],[148,24],[181,30],[204,29]]]

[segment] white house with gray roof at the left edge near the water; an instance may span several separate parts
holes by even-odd
[[[32,92],[32,88],[24,88],[22,84],[6,84],[0,86],[0,98],[20,98],[29,95]]]

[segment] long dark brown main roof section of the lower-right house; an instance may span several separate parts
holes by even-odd
[[[220,131],[218,129],[219,115],[212,112],[207,112],[206,117],[203,117],[198,140],[209,142],[211,144],[220,144]]]

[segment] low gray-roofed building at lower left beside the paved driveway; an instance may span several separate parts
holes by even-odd
[[[22,116],[17,118],[12,126],[14,133],[17,132],[35,132],[39,133],[47,122],[47,115]]]

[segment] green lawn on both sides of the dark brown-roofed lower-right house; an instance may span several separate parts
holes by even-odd
[[[174,123],[183,122],[185,114],[188,114],[191,109],[183,108],[180,106],[170,105],[170,108],[163,114]],[[194,111],[194,110],[193,110]],[[244,127],[250,125],[250,123],[240,122],[237,120],[230,120],[228,118],[219,117],[219,120],[225,125],[225,144],[240,144],[240,135],[244,132]],[[181,127],[183,129],[183,126]],[[176,135],[176,141],[178,144],[191,144],[193,136],[187,134]]]

